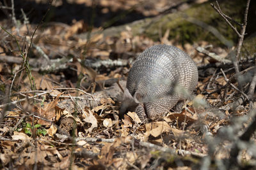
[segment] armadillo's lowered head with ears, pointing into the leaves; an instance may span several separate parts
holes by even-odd
[[[142,97],[140,93],[135,92],[134,96],[132,97],[129,90],[125,88],[122,105],[119,111],[120,117],[123,118],[124,114],[127,111],[134,111],[138,106],[138,104],[140,104],[141,102],[142,102]]]

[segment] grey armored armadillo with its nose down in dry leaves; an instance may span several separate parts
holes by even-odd
[[[135,111],[141,121],[163,117],[197,82],[198,69],[187,53],[175,46],[151,46],[129,71],[120,116]]]

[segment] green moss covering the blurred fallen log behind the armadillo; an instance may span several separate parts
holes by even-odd
[[[221,2],[221,10],[226,15],[234,18],[237,22],[241,22],[245,2],[242,0]],[[191,18],[192,21],[189,22],[184,16]],[[204,26],[198,26],[198,24],[195,24],[193,20],[203,22]],[[184,12],[171,13],[156,22],[153,20],[148,25],[144,34],[154,40],[158,40],[159,30],[164,33],[166,29],[170,29],[169,39],[178,39],[180,43],[193,43],[198,40],[205,40],[221,45],[220,39],[214,36],[212,32],[208,31],[205,28],[205,25],[214,27],[220,32],[220,34],[222,34],[223,37],[236,44],[237,35],[225,20],[223,20],[223,18],[221,18],[220,15],[211,7],[209,2],[196,4]]]

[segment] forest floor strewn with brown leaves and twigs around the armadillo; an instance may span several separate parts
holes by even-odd
[[[1,169],[256,167],[255,55],[238,63],[243,81],[237,83],[228,48],[203,40],[180,44],[168,30],[157,40],[134,36],[129,26],[103,33],[204,1],[15,3],[0,20]],[[15,17],[8,18],[12,9]],[[184,50],[198,66],[193,100],[147,124],[134,112],[120,119],[132,62],[163,43]]]

